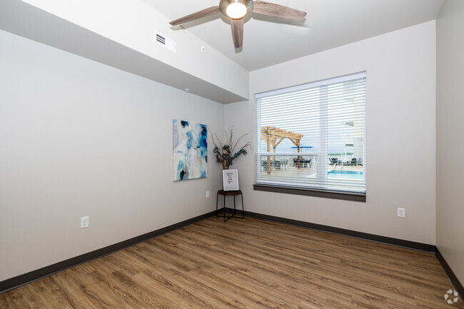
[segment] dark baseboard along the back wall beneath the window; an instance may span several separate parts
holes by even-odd
[[[233,212],[233,208],[226,208],[228,212]],[[241,215],[242,211],[237,210],[237,214]],[[361,238],[365,240],[373,240],[377,241],[378,243],[387,243],[388,245],[398,245],[400,247],[415,249],[415,250],[423,250],[430,253],[435,253],[435,245],[428,245],[427,243],[415,243],[414,241],[403,240],[398,238],[391,238],[386,236],[374,235],[369,233],[357,232],[346,230],[344,228],[334,228],[333,226],[323,226],[322,224],[316,223],[309,223],[306,221],[298,221],[293,219],[275,217],[275,216],[268,216],[263,215],[262,213],[251,213],[250,211],[245,211],[246,216],[250,216],[252,218],[263,219],[267,221],[279,222],[279,223],[286,223],[290,224],[291,226],[301,226],[303,228],[312,228],[313,230],[318,231],[325,231],[330,233],[336,233],[341,235],[346,235],[355,238]]]

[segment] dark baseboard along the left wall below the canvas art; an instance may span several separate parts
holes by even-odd
[[[174,231],[183,226],[188,226],[191,223],[196,223],[203,219],[213,216],[216,211],[211,211],[210,213],[205,213],[204,215],[197,216],[195,218],[182,221],[171,226],[166,226],[165,228],[160,228],[156,231],[152,231],[143,235],[136,236],[134,238],[121,241],[120,243],[115,243],[114,245],[109,245],[105,248],[97,249],[89,253],[84,253],[82,255],[76,256],[74,258],[69,258],[67,260],[62,260],[61,262],[46,266],[44,268],[39,268],[37,270],[32,270],[29,273],[24,273],[23,275],[17,275],[16,277],[6,279],[0,282],[0,294],[6,292],[7,290],[13,290],[14,288],[19,288],[21,285],[31,283],[32,281],[39,280],[41,278],[48,277],[60,271],[72,268],[76,265],[89,262],[90,260],[95,260],[96,258],[101,258],[104,255],[109,255],[123,248],[127,248],[136,243],[141,243],[150,238]]]

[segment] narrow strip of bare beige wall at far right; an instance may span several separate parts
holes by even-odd
[[[464,283],[464,1],[437,19],[437,247]]]

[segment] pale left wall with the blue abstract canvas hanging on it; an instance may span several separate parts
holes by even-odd
[[[215,209],[219,164],[172,181],[172,119],[222,104],[4,31],[0,85],[0,281]]]

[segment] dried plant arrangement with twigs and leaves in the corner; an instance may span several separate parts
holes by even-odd
[[[229,128],[228,132],[224,131],[227,141],[225,143],[221,142],[221,139],[218,138],[218,134],[214,133],[211,128],[209,128],[211,134],[211,139],[213,140],[213,153],[216,156],[216,162],[222,164],[222,168],[224,170],[228,170],[228,168],[233,164],[233,161],[241,155],[246,155],[248,153],[246,148],[251,148],[251,143],[248,141],[245,145],[241,148],[238,148],[238,143],[249,134],[245,133],[240,136],[237,141],[233,141],[233,128]],[[215,138],[216,137],[216,138]],[[237,152],[236,149],[238,149]]]

